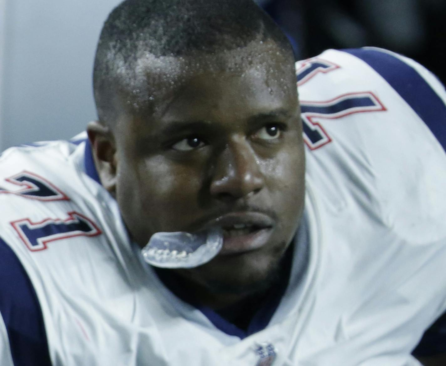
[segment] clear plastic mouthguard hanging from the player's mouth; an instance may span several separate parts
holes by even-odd
[[[141,250],[145,262],[161,268],[193,268],[209,262],[223,245],[223,231],[213,228],[190,234],[183,231],[152,235]]]

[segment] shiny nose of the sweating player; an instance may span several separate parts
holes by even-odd
[[[217,156],[211,181],[213,197],[242,198],[259,192],[263,186],[259,160],[246,140],[228,144]]]

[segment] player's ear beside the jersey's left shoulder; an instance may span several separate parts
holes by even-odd
[[[87,125],[88,139],[101,184],[113,196],[116,192],[116,144],[110,128],[99,121]]]

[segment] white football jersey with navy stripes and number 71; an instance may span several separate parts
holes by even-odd
[[[83,134],[0,156],[0,364],[419,365],[446,309],[444,89],[379,49],[328,50],[297,78],[306,207],[268,321],[243,332],[174,295]]]

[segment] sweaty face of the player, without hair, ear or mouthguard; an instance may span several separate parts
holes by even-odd
[[[152,114],[124,113],[114,131],[114,193],[136,243],[144,247],[159,231],[223,229],[215,259],[179,271],[210,291],[268,282],[301,218],[296,82],[277,52],[242,67],[180,73],[173,85],[170,76]]]

